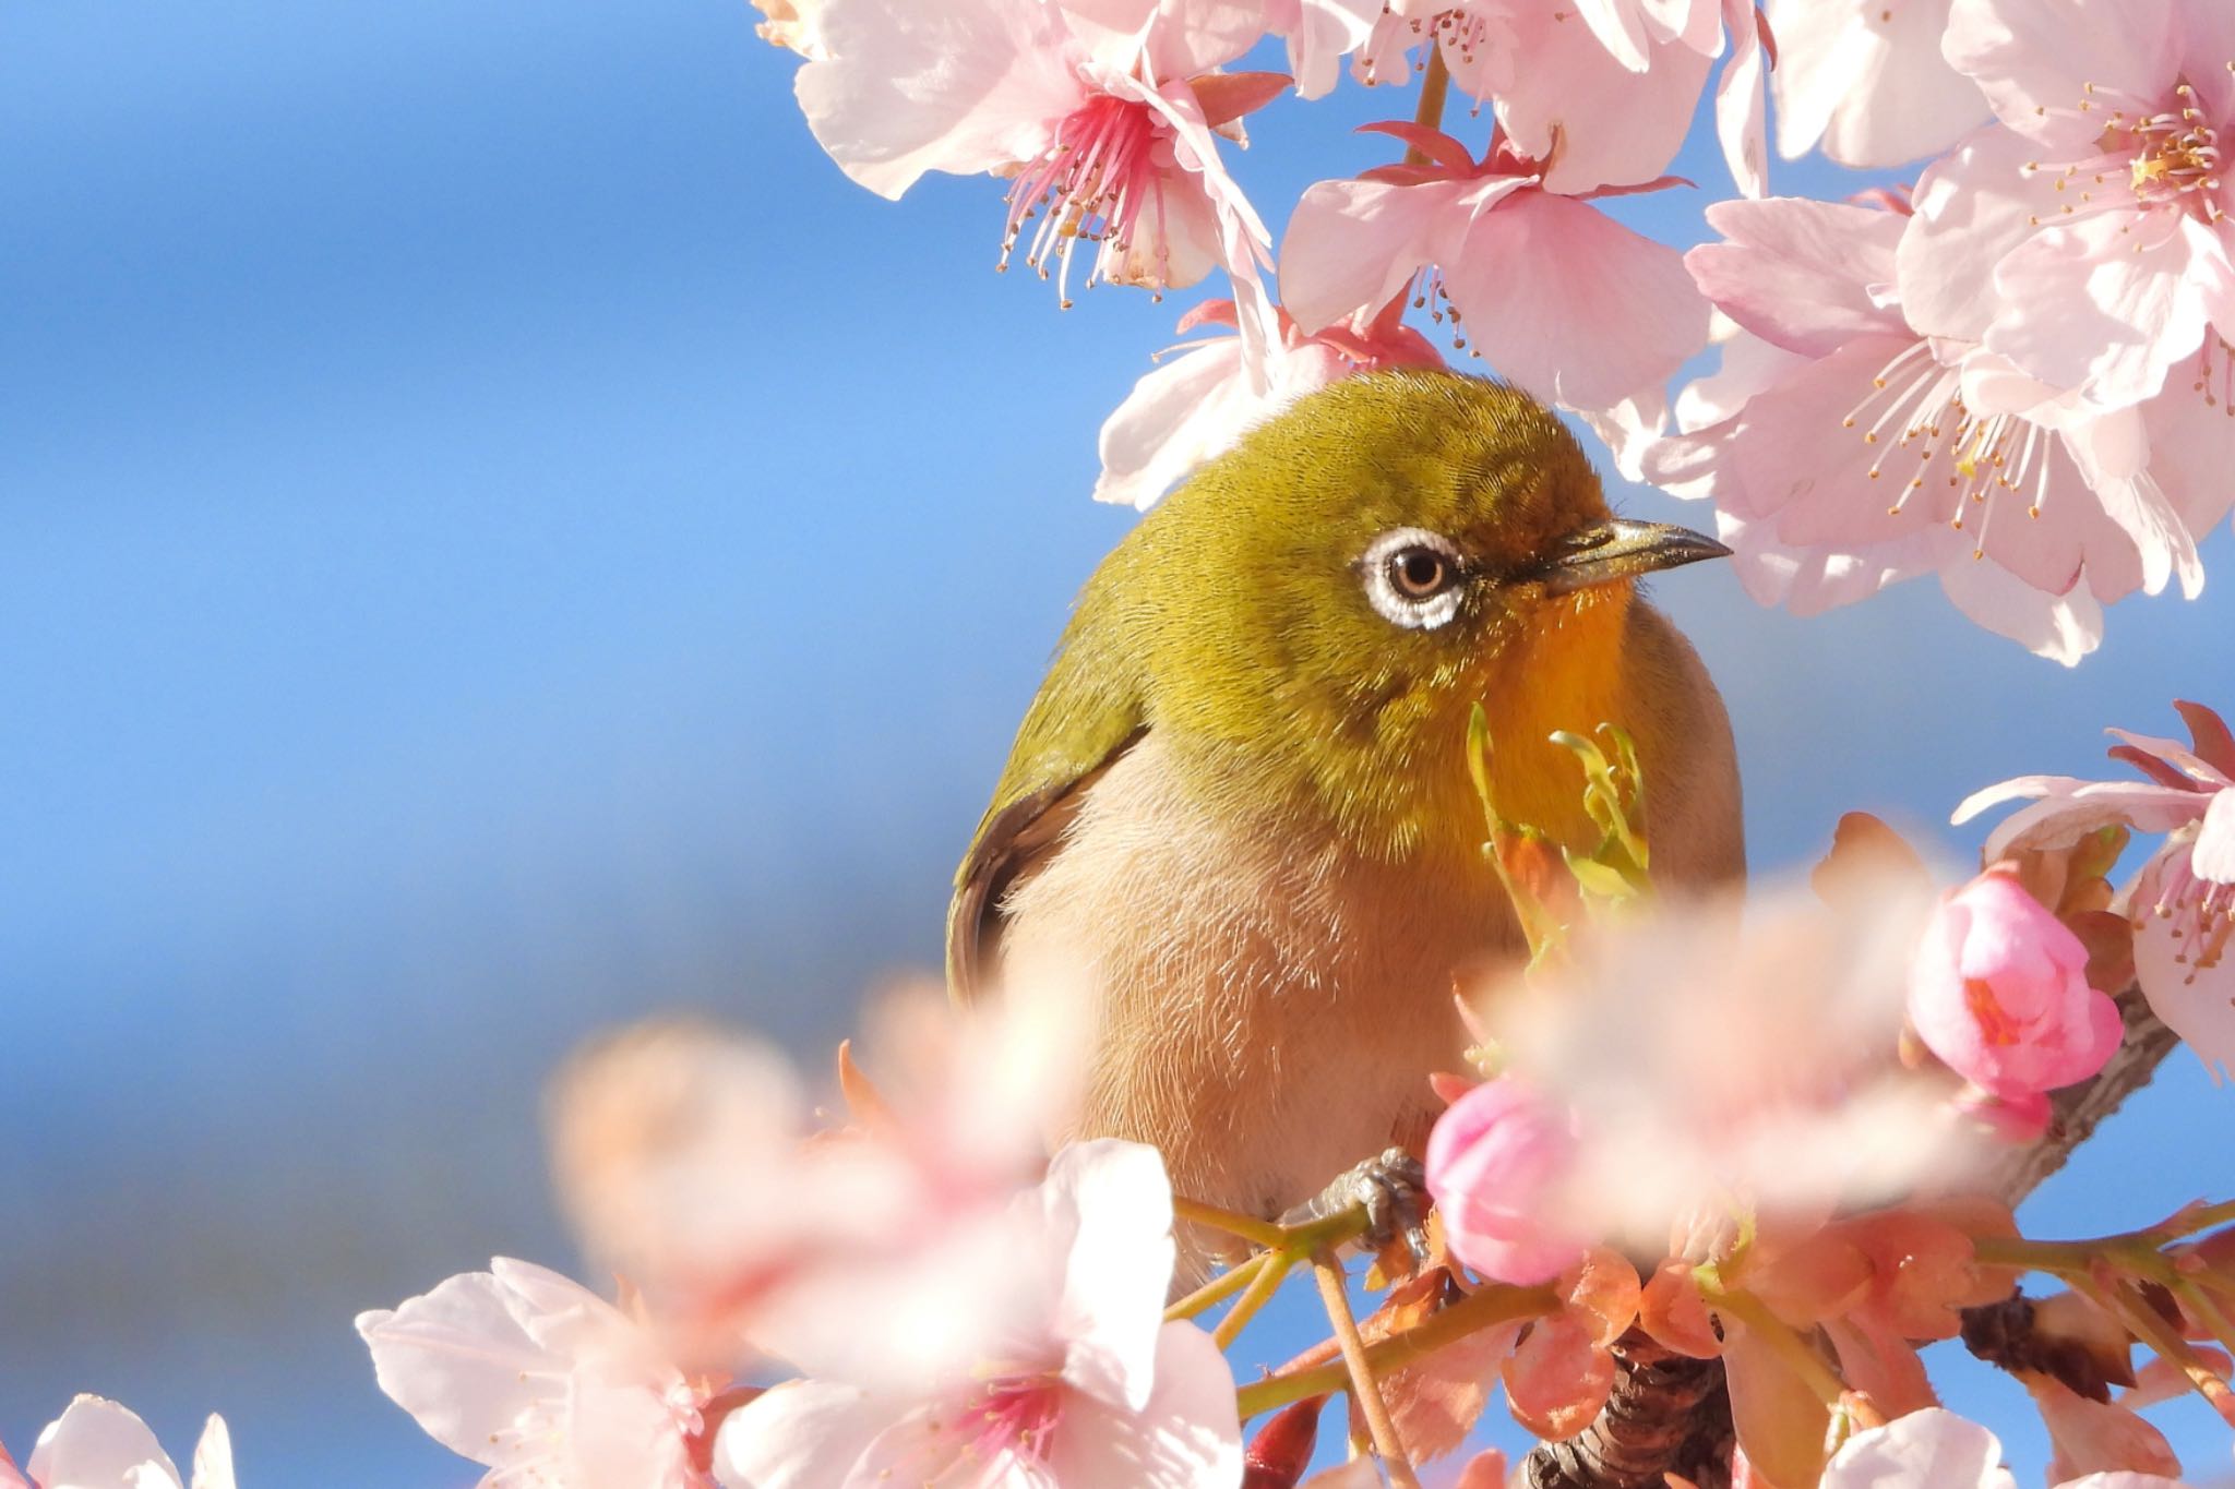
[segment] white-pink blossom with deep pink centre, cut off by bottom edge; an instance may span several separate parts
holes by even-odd
[[[1162,1319],[1171,1188],[1153,1147],[1075,1143],[1012,1210],[1004,1261],[1035,1306],[995,1357],[914,1389],[798,1380],[731,1413],[726,1489],[1231,1489],[1225,1355]],[[863,1317],[874,1331],[869,1315]]]

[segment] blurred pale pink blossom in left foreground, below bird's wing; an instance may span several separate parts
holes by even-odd
[[[916,1377],[1004,1328],[1001,1237],[1077,1076],[1064,998],[954,1014],[876,1005],[883,1087],[818,1132],[789,1063],[742,1034],[650,1025],[554,1080],[552,1165],[586,1250],[641,1286],[686,1360],[746,1346],[809,1373]],[[856,1080],[860,1080],[856,1076]],[[867,1339],[854,1319],[881,1317]]]

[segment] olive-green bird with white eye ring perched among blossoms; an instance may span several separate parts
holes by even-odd
[[[1721,694],[1636,594],[1728,551],[1616,518],[1553,413],[1453,371],[1348,377],[1200,464],[1080,592],[954,875],[959,1002],[1084,1000],[1048,1139],[1153,1143],[1252,1217],[1421,1150],[1455,973],[1522,951],[1477,703],[1504,817],[1596,844],[1549,734],[1618,723],[1656,884],[1741,877]],[[1225,1246],[1182,1228],[1182,1272]]]

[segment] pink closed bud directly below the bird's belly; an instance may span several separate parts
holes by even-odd
[[[1558,1277],[1582,1252],[1549,1217],[1573,1156],[1569,1112],[1511,1076],[1462,1096],[1428,1134],[1428,1192],[1451,1255],[1518,1286]]]

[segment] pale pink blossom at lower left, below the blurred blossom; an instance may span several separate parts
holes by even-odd
[[[711,1489],[717,1382],[588,1288],[498,1257],[398,1308],[358,1315],[387,1395],[485,1464],[483,1489]]]

